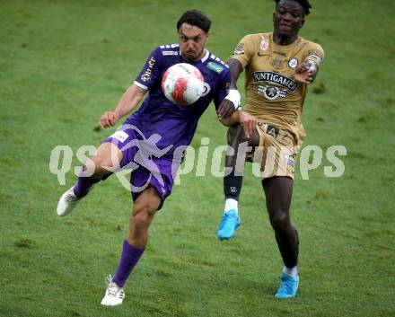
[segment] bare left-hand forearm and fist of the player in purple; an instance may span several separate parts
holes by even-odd
[[[114,127],[118,120],[126,116],[144,98],[146,90],[132,84],[118,101],[114,111],[106,111],[101,116],[100,128]]]

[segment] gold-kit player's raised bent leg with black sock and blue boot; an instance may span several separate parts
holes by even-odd
[[[241,145],[258,146],[259,134],[254,129],[252,136],[247,138],[241,125],[230,127],[228,134],[231,140],[230,146],[233,148],[233,154],[227,153],[225,156],[225,167],[231,168],[232,172],[224,176],[224,196],[225,207],[224,216],[218,226],[216,233],[218,239],[229,240],[232,239],[236,229],[241,224],[238,201],[241,193],[242,174],[244,172],[245,159],[239,155]]]

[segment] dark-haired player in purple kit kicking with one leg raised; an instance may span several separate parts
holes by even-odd
[[[75,186],[59,199],[57,215],[66,216],[95,183],[105,180],[118,168],[133,167],[130,183],[134,204],[129,230],[115,276],[107,278],[106,294],[101,301],[103,305],[122,304],[125,297],[123,287],[145,251],[148,227],[156,211],[171,193],[182,152],[194,136],[198,119],[211,101],[218,109],[227,96],[229,69],[206,49],[210,26],[211,21],[197,10],[187,11],[180,17],[177,22],[179,44],[154,49],[134,84],[118,101],[116,109],[101,116],[101,128],[115,126],[149,92],[141,107],[103,141],[84,164]],[[161,89],[163,73],[179,63],[198,67],[206,83],[206,92],[189,106],[171,103]],[[233,111],[235,107],[230,104]]]

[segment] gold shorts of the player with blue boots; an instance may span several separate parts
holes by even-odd
[[[294,179],[296,154],[300,148],[296,136],[288,130],[258,121],[259,147],[250,155],[255,172],[264,180],[273,176],[287,176]],[[258,175],[257,175],[258,176]]]

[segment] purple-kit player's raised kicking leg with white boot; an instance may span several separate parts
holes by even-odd
[[[110,142],[101,144],[96,153],[83,165],[78,181],[68,189],[57,204],[57,215],[68,215],[78,203],[86,196],[92,186],[111,173],[113,168],[118,167],[122,159],[122,153],[116,145]]]

